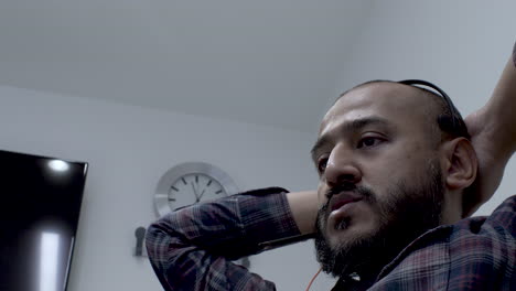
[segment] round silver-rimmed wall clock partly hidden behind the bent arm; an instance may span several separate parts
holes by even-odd
[[[238,193],[235,182],[223,170],[203,162],[179,164],[163,174],[154,194],[154,208],[158,216],[173,209],[202,201],[221,198]],[[249,268],[249,258],[237,263]]]

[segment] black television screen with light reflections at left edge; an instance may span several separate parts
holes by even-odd
[[[63,291],[87,163],[0,150],[0,290]]]

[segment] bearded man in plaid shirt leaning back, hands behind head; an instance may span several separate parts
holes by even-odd
[[[308,235],[338,277],[334,290],[514,290],[516,198],[462,219],[491,197],[516,149],[513,61],[466,119],[471,140],[428,90],[372,82],[343,94],[312,150],[318,192],[259,190],[162,217],[147,237],[159,280],[165,290],[276,290],[230,260]]]

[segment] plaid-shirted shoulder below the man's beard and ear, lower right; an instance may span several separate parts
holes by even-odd
[[[488,217],[429,230],[410,244],[370,290],[514,290],[516,196]]]

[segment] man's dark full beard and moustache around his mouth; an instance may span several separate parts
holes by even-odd
[[[329,200],[319,209],[315,231],[316,258],[322,270],[334,277],[352,272],[362,277],[375,277],[412,240],[439,226],[444,200],[439,162],[429,162],[426,176],[415,182],[416,186],[410,187],[405,181],[399,181],[390,186],[383,197],[367,187],[342,185],[342,188],[364,197],[363,201],[373,207],[378,216],[378,226],[373,234],[356,236],[352,240],[338,241],[337,246],[331,246],[324,231],[331,213]],[[347,223],[342,220],[335,227],[345,229]]]

